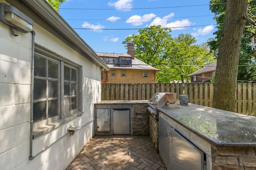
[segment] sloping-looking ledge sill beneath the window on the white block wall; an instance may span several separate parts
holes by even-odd
[[[40,127],[37,129],[33,130],[33,139],[36,139],[37,137],[40,137],[41,135],[44,135],[53,129],[56,129],[57,127],[60,127],[60,125],[63,125],[67,123],[68,121],[82,115],[84,112],[83,111],[78,111],[72,115],[69,115],[67,117],[64,117],[63,119],[59,119],[57,121],[54,121],[52,123],[49,123],[48,125],[45,125],[44,127]]]

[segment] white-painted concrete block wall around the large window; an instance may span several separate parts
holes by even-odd
[[[4,0],[0,3],[8,4]],[[33,16],[30,16],[31,18]],[[34,16],[36,17],[36,16]],[[101,99],[101,69],[34,20],[35,43],[82,66],[82,115],[33,139],[30,160],[32,34],[15,37],[0,21],[0,169],[65,169],[94,135],[94,103]],[[64,135],[71,125],[82,127]],[[63,136],[64,135],[64,136]],[[62,137],[63,136],[63,137]],[[62,138],[60,138],[62,137]],[[60,138],[60,139],[59,139]],[[58,140],[59,139],[59,140]]]

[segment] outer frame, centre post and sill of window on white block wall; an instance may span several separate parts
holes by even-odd
[[[68,59],[63,58],[60,55],[57,55],[56,53],[53,53],[51,51],[48,51],[47,49],[44,49],[43,47],[40,47],[38,45],[35,45],[35,55],[38,56],[42,56],[42,57],[48,57],[48,58],[52,58],[54,60],[60,61],[60,66],[63,67],[64,70],[64,63],[66,63],[67,65],[70,65],[74,68],[77,68],[77,111],[76,113],[72,113],[70,115],[64,115],[64,111],[63,111],[63,105],[64,105],[64,100],[62,99],[62,97],[64,96],[64,84],[61,83],[61,87],[60,87],[60,119],[52,122],[52,123],[48,123],[47,126],[40,126],[40,123],[38,123],[38,125],[33,125],[33,139],[40,137],[41,135],[48,133],[49,131],[52,131],[53,129],[56,129],[57,127],[60,127],[61,125],[67,123],[68,121],[80,116],[83,114],[82,111],[82,66],[74,63]],[[62,70],[62,68],[60,69]],[[61,74],[61,76],[64,77],[63,74]],[[34,77],[32,77],[34,79]],[[33,86],[32,86],[33,88]],[[32,94],[33,95],[33,94]],[[32,103],[33,104],[33,103]]]

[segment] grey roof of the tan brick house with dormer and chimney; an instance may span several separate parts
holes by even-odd
[[[128,55],[127,53],[123,54],[115,54],[115,53],[96,53],[99,57],[132,57],[131,55]],[[139,59],[132,59],[132,66],[131,67],[122,67],[119,66],[119,64],[107,64],[109,68],[120,68],[120,69],[136,69],[136,70],[156,70],[160,71],[158,68],[154,68],[147,63],[144,63],[143,61],[140,61]]]

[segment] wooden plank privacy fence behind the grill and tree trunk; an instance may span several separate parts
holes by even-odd
[[[256,84],[238,83],[236,87],[237,113],[254,115]],[[150,100],[156,92],[176,93],[177,98],[186,94],[189,103],[212,107],[214,83],[102,83],[101,100]]]

